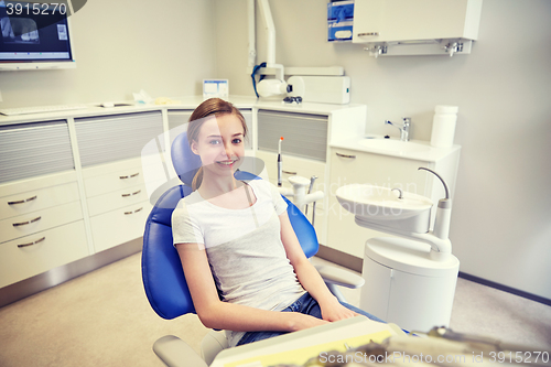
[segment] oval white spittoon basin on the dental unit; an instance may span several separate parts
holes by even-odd
[[[336,192],[338,203],[360,226],[383,226],[400,231],[426,233],[432,201],[425,196],[369,184],[352,184]]]

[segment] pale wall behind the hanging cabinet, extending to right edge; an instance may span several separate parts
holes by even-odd
[[[460,106],[451,239],[461,271],[551,299],[551,1],[484,0],[471,55],[377,60],[325,42],[326,2],[270,1],[277,62],[344,66],[369,132],[397,136],[382,121],[410,116],[412,139],[430,140],[434,106]],[[245,1],[215,4],[220,77],[231,94],[252,95]]]

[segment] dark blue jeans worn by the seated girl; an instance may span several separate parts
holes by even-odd
[[[374,321],[378,321],[383,323],[382,320],[368,314],[364,310],[360,310],[358,307],[353,306],[352,304],[341,302],[345,307],[348,310],[352,310],[356,313],[359,313],[360,315],[367,316],[368,319],[371,319]],[[322,319],[322,310],[320,309],[320,304],[317,303],[316,300],[310,295],[310,293],[304,293],[300,299],[294,301],[293,304],[291,304],[289,307],[282,310],[281,312],[300,312],[306,315],[311,315],[317,319]],[[252,342],[258,342],[258,341],[263,341],[270,337],[274,337],[278,335],[287,334],[287,332],[248,332],[245,333],[245,335],[239,339],[237,345],[244,345],[244,344],[249,344]]]

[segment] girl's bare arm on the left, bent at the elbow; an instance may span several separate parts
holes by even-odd
[[[325,323],[295,312],[276,312],[222,302],[203,245],[176,245],[197,315],[206,327],[235,332],[294,332]]]

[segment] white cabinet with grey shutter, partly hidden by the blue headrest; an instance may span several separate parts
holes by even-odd
[[[141,154],[165,143],[161,111],[79,118],[75,130],[95,252],[141,237],[151,209]]]

